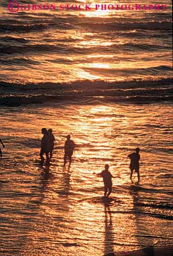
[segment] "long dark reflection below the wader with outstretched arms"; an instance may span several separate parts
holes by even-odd
[[[112,216],[110,210],[109,202],[105,202],[105,249],[104,254],[113,253],[113,242],[114,242],[114,235],[113,235],[113,223],[112,223]]]

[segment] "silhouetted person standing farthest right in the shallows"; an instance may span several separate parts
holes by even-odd
[[[136,152],[129,154],[128,157],[130,158],[130,180],[132,180],[133,171],[137,173],[138,182],[140,181],[140,174],[139,174],[139,160],[140,160],[140,148],[135,149]]]

